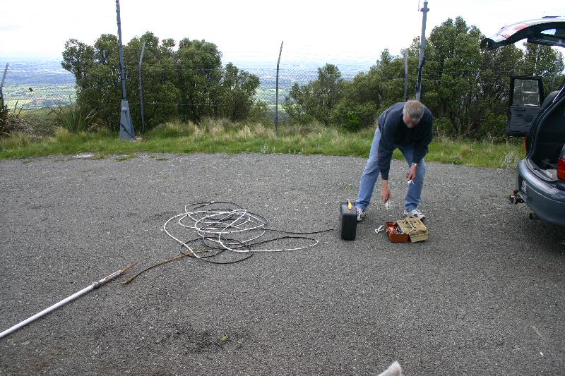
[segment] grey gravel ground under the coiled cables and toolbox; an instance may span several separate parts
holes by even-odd
[[[364,159],[187,154],[0,162],[0,322],[11,327],[92,281],[134,270],[0,339],[0,374],[563,375],[565,232],[510,205],[515,171],[429,163],[429,241],[338,231],[287,253],[211,265],[162,231],[190,202],[228,200],[269,226],[338,225]],[[378,191],[376,191],[378,194]],[[179,236],[191,238],[175,228]]]

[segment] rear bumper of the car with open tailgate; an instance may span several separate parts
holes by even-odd
[[[518,163],[518,194],[537,217],[565,226],[565,190],[538,178],[525,159]]]

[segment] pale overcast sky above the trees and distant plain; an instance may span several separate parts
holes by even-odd
[[[204,39],[227,61],[374,61],[388,48],[399,54],[421,33],[424,1],[121,0],[124,44],[151,31],[161,39]],[[564,16],[562,0],[430,0],[426,35],[447,18],[462,16],[485,35],[503,25]],[[93,44],[117,34],[114,0],[0,0],[0,61],[14,57],[60,59],[64,42]]]

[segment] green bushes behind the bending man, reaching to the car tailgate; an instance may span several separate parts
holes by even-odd
[[[425,51],[422,102],[432,110],[436,135],[499,139],[504,137],[511,75],[540,75],[545,87],[557,67],[555,51],[545,46],[528,47],[525,54],[515,46],[482,51],[484,35],[463,18],[448,18],[432,30]],[[420,40],[408,49],[408,99],[417,78]],[[369,71],[343,83],[343,95],[331,108],[331,123],[349,131],[374,127],[379,114],[404,98],[405,58],[385,49]],[[337,69],[337,68],[336,68]],[[320,80],[320,79],[319,79]],[[307,123],[323,121],[316,102],[319,94],[311,83],[295,85],[283,107],[291,119]]]

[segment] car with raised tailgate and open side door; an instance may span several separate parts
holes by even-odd
[[[521,40],[565,48],[565,17],[513,23],[484,38],[481,47],[496,49]],[[526,156],[518,162],[517,187],[510,195],[525,202],[530,218],[565,226],[565,82],[544,97],[542,80],[512,77],[509,135],[525,135]]]

